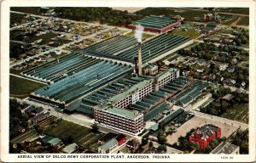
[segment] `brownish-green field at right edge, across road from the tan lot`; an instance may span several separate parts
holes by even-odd
[[[223,115],[224,118],[248,123],[249,106],[248,104],[234,104],[232,109],[227,110]]]

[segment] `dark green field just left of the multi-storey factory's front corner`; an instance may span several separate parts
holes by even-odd
[[[98,147],[97,140],[103,135],[101,132],[93,133],[88,127],[65,120],[59,121],[56,126],[49,126],[45,133],[62,140],[71,137],[73,142],[89,149],[96,149]]]

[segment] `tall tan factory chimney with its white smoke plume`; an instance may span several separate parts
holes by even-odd
[[[136,31],[134,33],[138,42],[138,74],[143,75],[143,59],[142,59],[142,42],[143,42],[143,31],[142,25],[137,25]]]

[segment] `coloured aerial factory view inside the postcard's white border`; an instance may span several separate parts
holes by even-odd
[[[249,8],[9,15],[10,154],[249,153]]]

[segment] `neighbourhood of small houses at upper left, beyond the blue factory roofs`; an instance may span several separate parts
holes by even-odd
[[[11,35],[14,32],[20,33],[20,36],[11,38],[11,43],[19,43],[20,49],[25,53],[20,53],[18,59],[26,59],[22,65],[15,66],[15,69],[20,70],[28,65],[33,65],[38,61],[45,61],[44,55],[37,59],[32,59],[32,56],[39,53],[49,51],[51,48],[56,48],[64,43],[75,41],[79,42],[81,36],[92,35],[96,32],[107,29],[104,25],[89,25],[87,23],[74,23],[68,20],[61,20],[59,18],[49,17],[47,19],[39,19],[30,21],[20,26],[19,29],[11,31]],[[119,34],[118,28],[113,28],[109,31],[96,35],[96,39],[102,39],[105,37],[112,37]],[[48,35],[47,37],[45,37]],[[36,40],[31,37],[37,37]],[[83,42],[82,42],[83,43]],[[92,42],[89,42],[92,43]],[[60,54],[61,51],[55,52]],[[42,58],[42,60],[41,60]],[[11,62],[15,62],[17,59],[11,59]]]

